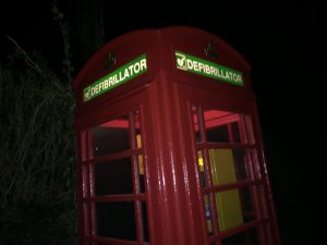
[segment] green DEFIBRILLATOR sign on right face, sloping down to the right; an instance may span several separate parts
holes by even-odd
[[[229,84],[244,86],[242,72],[180,51],[175,51],[174,57],[177,69],[179,70],[219,79]]]

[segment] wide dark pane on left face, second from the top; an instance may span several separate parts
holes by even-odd
[[[133,193],[131,158],[95,164],[95,194],[114,195]]]

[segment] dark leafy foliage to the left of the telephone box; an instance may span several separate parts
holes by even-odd
[[[40,56],[31,59],[17,45],[0,64],[1,244],[75,244],[74,97],[68,78],[60,81]]]

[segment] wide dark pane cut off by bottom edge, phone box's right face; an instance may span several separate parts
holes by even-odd
[[[255,229],[234,234],[222,241],[222,245],[259,245]]]

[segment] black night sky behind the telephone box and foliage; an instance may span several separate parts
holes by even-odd
[[[9,47],[4,37],[10,35],[27,52],[39,51],[49,64],[61,65],[62,41],[51,1],[40,2],[1,5],[1,60]],[[73,2],[59,0],[68,22],[73,17]],[[241,5],[240,1],[110,2],[105,3],[106,41],[134,29],[187,25],[219,36],[252,64],[282,244],[311,244],[317,237],[313,231],[322,211],[322,194],[315,193],[320,189],[326,163],[319,157],[320,146],[326,145],[320,142],[327,82],[327,14],[322,5],[314,1]]]

